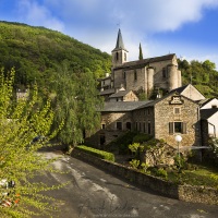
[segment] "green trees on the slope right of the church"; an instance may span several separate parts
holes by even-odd
[[[178,59],[178,63],[183,85],[192,83],[207,98],[218,96],[218,71],[216,71],[215,63],[209,60],[204,62],[193,60],[189,63],[186,60],[180,59]]]

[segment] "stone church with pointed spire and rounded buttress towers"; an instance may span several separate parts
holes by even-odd
[[[155,89],[161,88],[168,93],[181,85],[181,71],[178,70],[174,53],[129,61],[129,51],[124,47],[119,29],[116,48],[112,50],[111,73],[107,73],[106,77],[100,80],[100,95],[106,100],[120,88],[141,90],[149,97]]]

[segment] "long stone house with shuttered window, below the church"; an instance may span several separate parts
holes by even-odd
[[[95,145],[109,144],[126,131],[137,131],[177,146],[174,136],[182,136],[181,145],[199,145],[198,104],[177,93],[154,101],[105,102],[101,130],[95,134]],[[94,141],[93,141],[94,143]]]

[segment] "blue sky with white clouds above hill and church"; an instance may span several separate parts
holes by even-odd
[[[0,21],[59,31],[111,53],[121,29],[129,60],[175,53],[218,69],[218,0],[0,0]]]

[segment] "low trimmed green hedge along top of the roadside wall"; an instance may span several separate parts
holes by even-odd
[[[80,149],[84,153],[94,155],[94,156],[101,158],[101,159],[106,159],[106,160],[110,160],[110,161],[114,161],[114,159],[116,159],[114,155],[112,153],[107,153],[107,152],[99,150],[99,149],[96,149],[96,148],[93,148],[93,147],[87,147],[85,145],[78,145],[76,147],[76,149]]]

